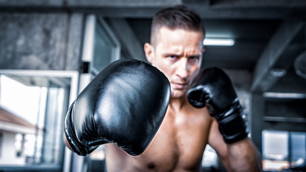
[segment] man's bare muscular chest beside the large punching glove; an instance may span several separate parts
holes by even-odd
[[[157,171],[198,171],[209,128],[210,118],[203,114],[167,113],[153,141],[139,159]]]

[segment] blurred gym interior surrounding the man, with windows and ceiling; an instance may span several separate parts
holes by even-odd
[[[306,172],[305,0],[0,0],[0,172],[103,172],[63,143],[67,108],[109,63],[146,61],[153,15],[184,4],[206,28],[203,67],[233,81],[266,172]],[[224,172],[207,147],[204,172]]]

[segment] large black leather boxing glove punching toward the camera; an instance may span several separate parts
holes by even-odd
[[[87,155],[116,143],[131,155],[148,147],[165,116],[170,83],[151,64],[121,59],[109,64],[80,93],[67,112],[70,147]]]

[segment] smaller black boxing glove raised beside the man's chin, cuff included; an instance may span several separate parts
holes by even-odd
[[[232,82],[218,67],[202,69],[187,92],[189,103],[196,108],[207,107],[219,123],[226,143],[247,137],[247,121]]]

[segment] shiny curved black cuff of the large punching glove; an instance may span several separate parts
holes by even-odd
[[[73,102],[72,105],[70,106],[65,118],[65,135],[71,149],[74,152],[76,152],[78,155],[86,156],[87,154],[94,151],[98,146],[88,147],[78,141],[74,127],[72,125],[73,122],[71,117],[74,103],[75,102]]]

